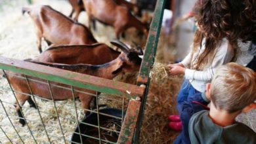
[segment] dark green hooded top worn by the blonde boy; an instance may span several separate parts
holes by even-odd
[[[236,122],[221,127],[213,123],[209,111],[195,113],[189,121],[189,136],[192,144],[231,143],[256,144],[256,133],[245,124]]]

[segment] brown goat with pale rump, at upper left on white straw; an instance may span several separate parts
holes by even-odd
[[[97,43],[91,31],[52,9],[50,6],[37,5],[32,8],[23,7],[33,20],[37,33],[37,46],[41,49],[41,39],[56,45],[85,45]]]

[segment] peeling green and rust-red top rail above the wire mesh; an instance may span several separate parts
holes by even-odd
[[[127,98],[136,98],[142,96],[144,88],[125,82],[118,82],[91,75],[75,73],[66,71],[64,69],[57,69],[37,63],[24,62],[22,60],[15,60],[12,58],[5,58],[0,56],[0,69],[13,71],[14,73],[21,73],[38,77],[54,82],[73,85],[79,88],[86,88],[103,92],[104,94],[125,95]]]

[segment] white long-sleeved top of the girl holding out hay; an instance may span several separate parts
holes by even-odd
[[[198,54],[201,54],[202,51],[205,49],[205,39],[202,41],[202,47],[196,54],[194,54],[192,58],[192,62],[198,57]],[[190,55],[191,52],[182,60],[182,65],[184,67],[188,67],[190,65]],[[228,48],[228,41],[227,39],[223,39],[221,45],[215,52],[215,56],[213,58],[213,62],[206,65],[202,71],[198,71],[196,69],[185,69],[185,79],[188,79],[192,86],[198,90],[199,92],[205,92],[205,87],[207,82],[211,82],[213,75],[217,68],[225,63],[228,63],[232,60],[234,53],[232,52],[231,48]]]

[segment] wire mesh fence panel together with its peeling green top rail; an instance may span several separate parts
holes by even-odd
[[[116,143],[130,99],[144,92],[139,86],[96,77],[90,83],[90,76],[18,60],[0,58],[0,68],[1,143]],[[83,83],[72,82],[78,77]],[[106,86],[97,88],[96,81]]]

